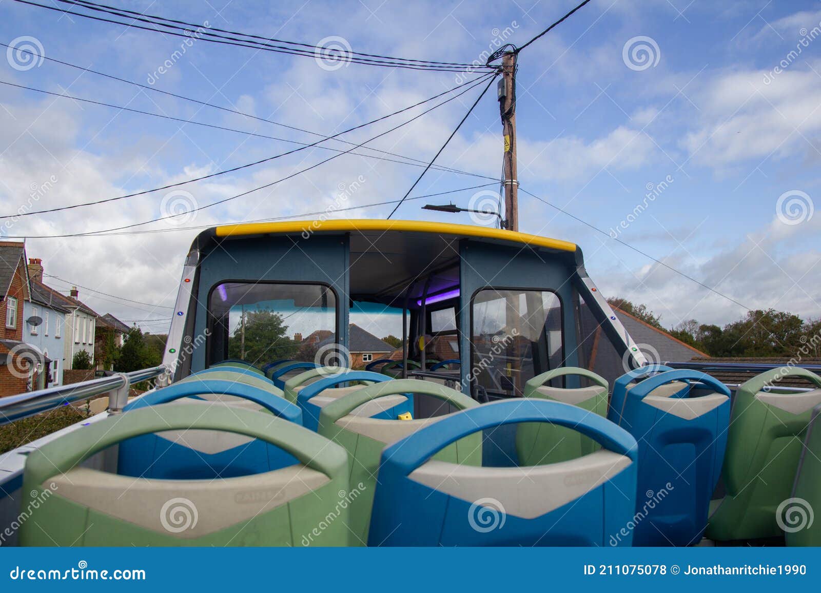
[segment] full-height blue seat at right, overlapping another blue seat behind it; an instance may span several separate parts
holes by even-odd
[[[677,385],[699,383],[686,395]],[[633,545],[692,545],[704,535],[721,475],[730,390],[703,372],[649,376],[626,392],[622,427],[639,443]]]

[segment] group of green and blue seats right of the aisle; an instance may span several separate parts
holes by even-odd
[[[591,385],[551,385],[568,375]],[[617,379],[608,404],[602,377],[559,368],[529,381],[525,397],[606,413],[635,437],[640,463],[633,545],[692,545],[702,536],[785,536],[788,545],[819,545],[821,527],[813,527],[812,509],[821,505],[815,488],[821,480],[821,428],[812,429],[821,389],[768,390],[788,376],[821,387],[821,377],[812,372],[775,369],[741,385],[731,408],[730,391],[712,376],[651,365]],[[521,463],[560,463],[596,447],[584,436],[544,425],[523,424],[516,435]],[[720,479],[725,493],[711,500]],[[793,529],[791,519],[804,524]]]

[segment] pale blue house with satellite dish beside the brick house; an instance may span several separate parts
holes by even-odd
[[[29,258],[28,271],[31,297],[23,305],[24,337],[43,353],[45,372],[40,373],[36,389],[44,389],[62,385],[65,367],[62,329],[69,310],[62,305],[62,294],[44,285],[42,260]]]

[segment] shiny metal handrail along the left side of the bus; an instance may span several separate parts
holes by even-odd
[[[126,403],[131,385],[153,379],[165,372],[166,367],[161,365],[0,398],[0,426],[95,395],[108,394],[113,404],[109,407],[113,412],[117,412]]]

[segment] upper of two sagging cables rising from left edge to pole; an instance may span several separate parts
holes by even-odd
[[[117,200],[122,200],[122,199],[125,199],[125,198],[134,198],[135,196],[140,196],[140,195],[145,195],[145,194],[152,194],[152,193],[157,192],[157,191],[163,191],[163,190],[165,190],[165,189],[172,189],[172,188],[180,187],[181,185],[187,185],[187,184],[190,184],[190,183],[194,183],[194,182],[196,182],[196,181],[202,181],[202,180],[206,180],[206,179],[211,179],[211,178],[216,177],[216,176],[225,175],[225,174],[227,174],[227,173],[233,173],[233,172],[235,172],[235,171],[241,171],[242,169],[246,169],[246,168],[248,168],[248,167],[250,167],[250,166],[257,166],[257,165],[261,165],[261,164],[263,164],[264,162],[270,162],[270,161],[273,161],[274,159],[277,159],[277,158],[286,157],[286,156],[288,156],[288,155],[291,155],[291,154],[294,154],[294,153],[298,153],[298,152],[300,152],[300,151],[302,151],[302,150],[305,150],[306,148],[311,148],[311,147],[314,147],[314,146],[316,146],[316,145],[318,145],[318,144],[320,144],[320,143],[322,143],[322,142],[324,142],[324,141],[326,141],[326,140],[328,140],[328,139],[334,139],[334,138],[336,138],[336,137],[337,137],[337,136],[339,136],[339,135],[346,134],[346,133],[351,132],[351,131],[353,131],[353,130],[359,130],[360,128],[363,128],[363,127],[365,127],[365,126],[367,126],[367,125],[372,125],[372,124],[374,124],[374,123],[376,123],[376,122],[378,122],[378,121],[383,121],[383,120],[385,120],[385,119],[388,119],[388,117],[392,117],[392,116],[398,115],[398,114],[400,114],[400,113],[402,113],[402,112],[409,111],[410,109],[413,109],[414,107],[419,107],[420,105],[422,105],[422,104],[424,104],[424,103],[429,103],[430,101],[433,101],[433,99],[440,98],[440,97],[442,97],[443,95],[446,95],[446,94],[452,93],[454,90],[456,90],[456,89],[460,89],[461,87],[466,86],[466,84],[475,83],[475,84],[473,84],[473,86],[468,87],[468,89],[466,89],[466,90],[473,89],[473,88],[475,87],[475,85],[476,85],[476,84],[480,84],[480,83],[481,83],[482,81],[484,81],[484,80],[485,80],[488,76],[490,76],[490,75],[479,76],[479,78],[478,78],[478,79],[470,80],[470,81],[469,81],[469,82],[467,82],[467,83],[459,84],[458,86],[453,87],[452,89],[448,89],[447,91],[445,91],[445,92],[443,92],[443,93],[440,93],[440,94],[437,94],[437,95],[434,95],[434,96],[433,96],[433,97],[431,97],[431,98],[424,99],[424,101],[420,101],[419,103],[415,103],[414,105],[410,105],[410,106],[408,106],[408,107],[404,107],[404,108],[402,108],[402,109],[398,110],[397,112],[392,112],[392,113],[389,113],[389,114],[388,114],[388,115],[386,115],[386,116],[381,116],[381,117],[378,117],[377,119],[375,119],[375,120],[371,120],[371,121],[367,121],[367,122],[365,122],[364,124],[355,125],[354,127],[348,128],[348,129],[346,129],[346,130],[342,130],[341,132],[337,133],[336,135],[333,135],[333,136],[328,136],[327,138],[323,138],[323,139],[317,140],[317,141],[316,141],[316,142],[314,142],[313,144],[305,144],[304,146],[300,146],[300,148],[294,148],[293,150],[289,150],[289,151],[287,151],[287,152],[285,152],[285,153],[275,154],[275,155],[273,155],[272,157],[266,157],[266,158],[263,158],[263,159],[261,159],[261,160],[259,160],[259,161],[255,161],[255,162],[246,163],[245,165],[234,166],[234,167],[231,167],[231,168],[229,168],[229,169],[223,169],[222,171],[216,171],[216,172],[214,172],[214,173],[209,173],[208,175],[204,175],[204,176],[200,176],[200,177],[195,177],[195,178],[193,178],[193,179],[188,179],[188,180],[178,181],[177,183],[172,183],[172,184],[168,184],[168,185],[163,185],[163,186],[156,187],[156,188],[153,188],[153,189],[144,189],[144,190],[139,191],[139,192],[133,192],[133,193],[131,193],[131,194],[125,194],[125,195],[116,196],[116,197],[114,197],[114,198],[103,198],[103,199],[99,199],[99,200],[94,200],[94,201],[92,201],[92,202],[85,202],[85,203],[79,203],[79,204],[72,204],[72,205],[70,205],[70,206],[61,206],[61,207],[58,207],[58,208],[47,208],[47,209],[44,209],[44,210],[34,210],[34,211],[30,211],[30,212],[20,212],[20,213],[16,213],[16,214],[5,214],[5,215],[0,216],[0,219],[4,219],[4,218],[17,218],[17,217],[27,217],[27,216],[32,216],[32,215],[34,215],[34,214],[48,214],[49,212],[60,212],[60,211],[63,211],[63,210],[71,210],[71,209],[74,209],[74,208],[83,208],[83,207],[85,207],[85,206],[95,206],[95,205],[98,205],[98,204],[101,204],[101,203],[114,202],[114,201],[117,201]],[[25,89],[36,90],[36,91],[39,91],[39,92],[42,92],[42,93],[53,94],[53,93],[50,93],[50,92],[48,92],[48,91],[42,91],[42,90],[40,90],[40,89],[33,89],[33,88],[30,88],[30,87],[24,87],[23,85],[20,85],[20,84],[12,84],[12,83],[7,83],[7,82],[2,81],[2,80],[0,80],[0,84],[8,84],[8,85],[11,85],[11,86],[18,86],[18,87],[25,88]],[[456,98],[456,97],[458,97],[458,96],[460,96],[460,95],[461,95],[461,94],[457,94],[457,95],[455,95],[453,98]],[[57,96],[60,96],[60,97],[67,97],[67,95],[60,95],[60,94],[58,94]],[[443,104],[443,103],[440,103],[440,104]],[[437,107],[438,107],[438,106],[437,106]],[[117,108],[120,108],[120,107],[117,107]],[[423,114],[424,114],[424,113],[427,113],[427,112],[423,112]],[[157,115],[157,114],[154,114],[154,115]],[[163,116],[163,117],[166,117],[166,116]],[[173,119],[176,119],[176,118],[173,118]],[[193,122],[192,122],[192,123],[193,123]],[[369,140],[369,141],[370,141],[370,140]],[[363,144],[364,144],[364,143],[363,143]],[[352,152],[353,152],[353,150],[354,150],[355,148],[360,148],[363,144],[355,144],[355,145],[353,145],[353,147],[352,147],[352,148],[349,148],[349,149],[347,149],[347,150],[340,150],[340,151],[339,151],[336,155],[334,155],[334,156],[335,156],[335,157],[339,157],[339,156],[342,156],[343,154],[352,153]],[[366,155],[362,155],[362,156],[366,156]],[[411,164],[411,163],[406,163],[406,164]],[[484,178],[487,178],[487,179],[493,179],[493,177],[488,177],[488,176],[480,176],[479,174],[476,174],[476,173],[468,173],[468,175],[471,175],[471,176],[479,176],[479,177],[484,177]]]

